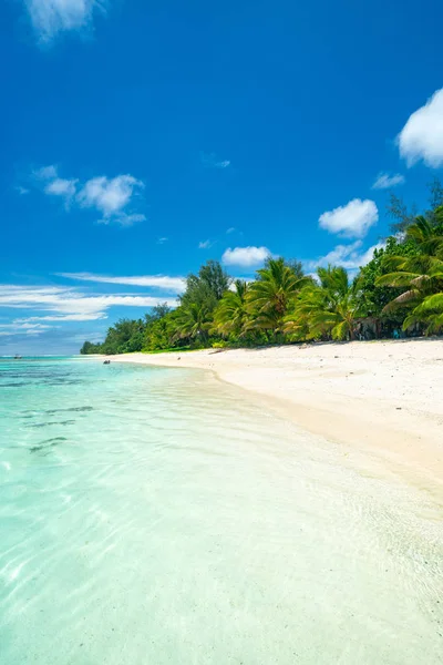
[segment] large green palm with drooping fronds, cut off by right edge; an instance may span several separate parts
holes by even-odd
[[[408,227],[405,238],[414,243],[416,253],[387,257],[385,266],[391,272],[377,279],[377,286],[404,288],[384,311],[408,307],[411,311],[403,321],[403,329],[414,323],[430,321],[429,330],[436,331],[442,327],[439,315],[443,314],[443,207],[434,211],[433,223],[416,217]],[[442,297],[435,297],[439,295]]]

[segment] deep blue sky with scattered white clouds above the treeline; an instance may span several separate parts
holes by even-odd
[[[432,0],[0,8],[0,354],[74,352],[207,258],[349,269],[442,176]],[[374,183],[379,181],[378,186]]]

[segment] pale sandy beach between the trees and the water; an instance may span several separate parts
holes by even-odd
[[[370,453],[443,501],[443,340],[131,354],[119,362],[212,370],[300,427]]]

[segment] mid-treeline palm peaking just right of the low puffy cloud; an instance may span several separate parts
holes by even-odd
[[[284,258],[269,258],[264,268],[257,270],[258,279],[247,294],[251,315],[249,328],[282,329],[285,316],[300,289],[309,278],[300,276]]]

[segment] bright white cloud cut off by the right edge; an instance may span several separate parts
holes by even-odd
[[[410,115],[398,143],[408,166],[420,160],[432,168],[443,165],[443,88]]]

